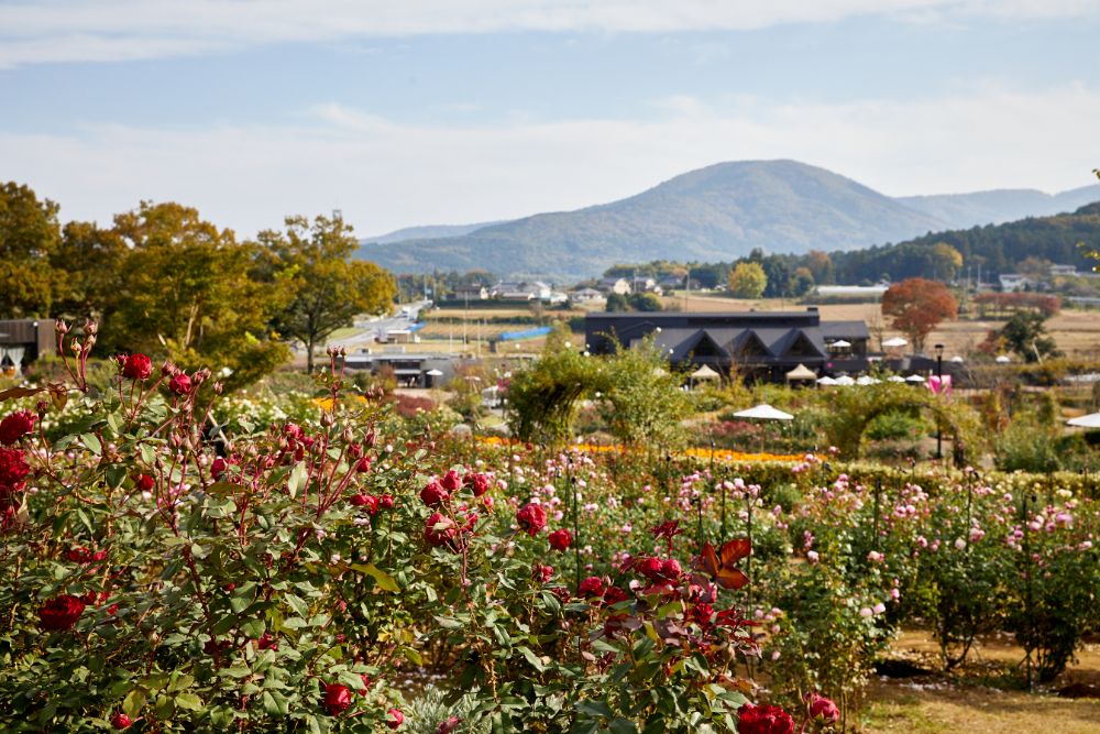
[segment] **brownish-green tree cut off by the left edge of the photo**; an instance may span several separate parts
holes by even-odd
[[[0,186],[0,316],[50,315],[59,241],[56,204],[14,182]]]

